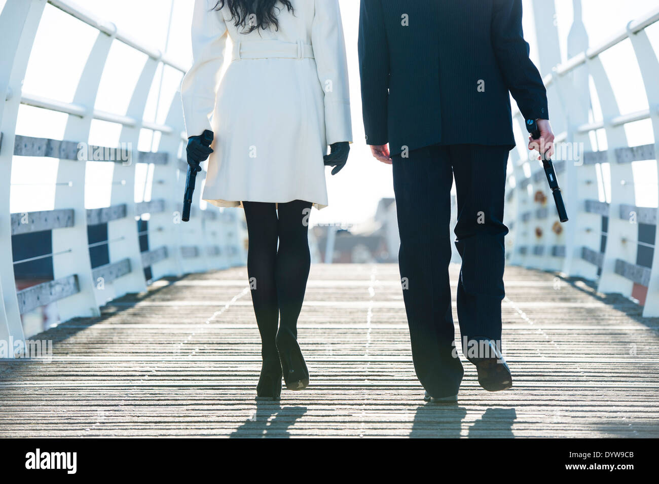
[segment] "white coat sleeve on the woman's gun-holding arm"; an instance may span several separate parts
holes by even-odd
[[[227,44],[227,26],[214,0],[195,0],[192,14],[192,58],[181,82],[183,117],[189,136],[212,130],[209,117],[215,110],[215,94]]]

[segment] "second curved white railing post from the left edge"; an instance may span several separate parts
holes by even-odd
[[[73,103],[86,107],[87,113],[83,117],[69,116],[64,130],[65,140],[89,140],[98,86],[113,38],[113,35],[104,32],[99,32],[96,38],[73,99]],[[84,205],[85,173],[85,161],[60,159],[57,165],[55,209],[74,209],[74,225],[53,230],[53,253],[70,251],[53,257],[53,273],[55,279],[76,274],[80,288],[77,294],[57,301],[57,310],[62,321],[77,316],[100,314],[89,254],[87,211]]]

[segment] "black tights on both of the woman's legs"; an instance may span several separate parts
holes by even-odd
[[[278,206],[277,210],[275,203],[243,202],[249,236],[247,273],[264,360],[277,358],[278,322],[297,336],[311,265],[307,239],[311,203],[294,200]]]

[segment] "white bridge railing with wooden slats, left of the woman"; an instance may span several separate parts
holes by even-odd
[[[22,91],[47,3],[98,30],[70,103]],[[108,300],[146,290],[148,280],[244,263],[243,222],[237,211],[211,205],[201,210],[198,189],[191,221],[181,223],[186,163],[179,95],[169,105],[165,124],[144,119],[150,90],[158,88],[158,82],[154,83],[158,68],[168,66],[181,73],[185,68],[67,0],[7,0],[0,13],[0,32],[0,340],[30,336],[24,335],[21,316],[45,304],[57,303],[61,321],[98,315]],[[148,56],[125,113],[94,109],[108,54],[116,42]],[[63,138],[16,134],[21,104],[65,113]],[[121,126],[118,147],[88,146],[93,120]],[[158,151],[134,148],[143,128],[159,133]],[[12,167],[29,162],[31,158],[26,157],[48,157],[57,163],[51,210],[10,213]],[[87,161],[113,165],[107,207],[88,209],[85,205]],[[151,196],[135,203],[140,164],[148,165],[152,173]],[[198,187],[205,173],[198,175]],[[40,196],[38,188],[34,190],[35,197]],[[107,229],[107,236],[91,242],[90,230],[100,225]],[[15,244],[30,233],[51,238],[51,250],[16,260]],[[107,263],[102,265],[90,256],[90,251],[99,248],[107,250]],[[51,259],[52,280],[16,290],[14,267],[39,259]]]

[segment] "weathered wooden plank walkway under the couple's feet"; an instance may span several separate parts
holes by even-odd
[[[299,322],[311,385],[257,405],[246,279],[158,281],[35,336],[53,340],[52,362],[0,360],[0,437],[659,436],[659,319],[585,282],[508,267],[515,387],[486,392],[463,359],[446,406],[422,400],[397,266],[316,265]]]

